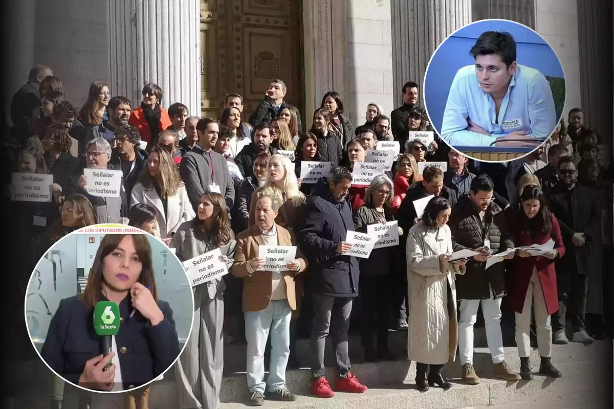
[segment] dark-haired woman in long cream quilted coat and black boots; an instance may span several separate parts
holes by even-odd
[[[466,260],[451,261],[452,235],[447,225],[452,206],[434,197],[407,238],[408,359],[416,361],[416,386],[421,392],[437,385],[451,388],[441,375],[457,350],[455,274],[464,274]],[[427,375],[428,373],[428,375]]]

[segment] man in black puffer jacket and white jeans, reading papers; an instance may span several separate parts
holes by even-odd
[[[456,277],[456,294],[461,300],[459,308],[459,355],[462,381],[476,385],[480,378],[473,368],[473,326],[482,307],[486,324],[486,342],[492,357],[495,377],[506,381],[519,381],[505,362],[501,334],[501,301],[505,296],[505,263],[499,262],[488,269],[489,256],[514,248],[507,227],[505,212],[494,203],[491,177],[481,174],[473,178],[470,193],[459,197],[448,221],[454,251],[470,249],[478,252],[467,264],[467,272]],[[513,258],[514,253],[505,256]]]

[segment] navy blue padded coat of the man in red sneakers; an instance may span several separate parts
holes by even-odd
[[[298,231],[300,248],[309,259],[309,279],[314,294],[357,297],[359,264],[354,256],[337,253],[338,243],[354,231],[348,201],[336,202],[322,178],[307,200]]]

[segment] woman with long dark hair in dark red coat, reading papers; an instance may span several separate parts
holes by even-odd
[[[508,271],[507,301],[516,315],[516,345],[520,356],[520,376],[532,380],[530,357],[530,325],[535,316],[537,349],[541,357],[539,372],[552,378],[560,378],[550,362],[552,353],[552,327],[550,315],[559,309],[554,262],[565,254],[561,228],[556,216],[550,212],[546,197],[538,186],[528,185],[519,197],[520,208],[509,224],[514,243],[518,247],[542,245],[554,241],[554,248],[543,255],[532,256],[517,250]]]

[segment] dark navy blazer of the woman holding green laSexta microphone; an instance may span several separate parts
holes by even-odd
[[[101,297],[101,300],[107,299]],[[173,320],[173,310],[166,301],[158,300],[164,320],[152,326],[148,319],[132,312],[130,296],[119,305],[120,329],[115,335],[117,356],[122,370],[123,389],[138,388],[173,364],[181,352]],[[103,352],[103,338],[94,331],[93,309],[79,296],[60,301],[51,319],[41,357],[56,373],[78,384],[85,362]]]

